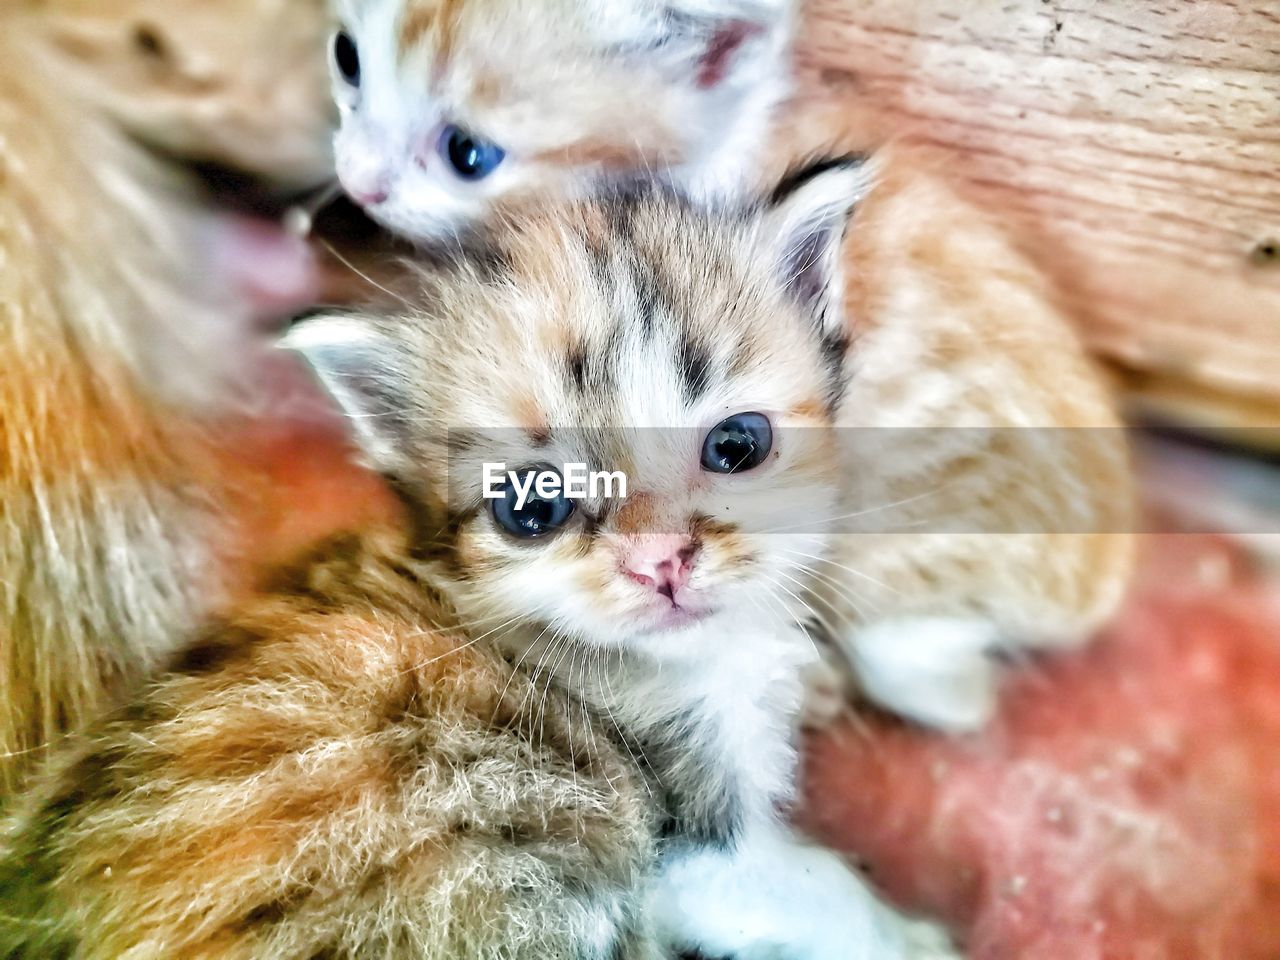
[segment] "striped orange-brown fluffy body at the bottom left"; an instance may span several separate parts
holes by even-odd
[[[658,957],[643,773],[426,566],[334,540],[99,726],[9,850],[0,952]]]

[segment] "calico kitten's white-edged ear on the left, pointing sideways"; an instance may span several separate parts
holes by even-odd
[[[280,346],[301,355],[315,371],[351,424],[369,466],[399,472],[412,440],[403,348],[358,316],[342,314],[296,323]]]

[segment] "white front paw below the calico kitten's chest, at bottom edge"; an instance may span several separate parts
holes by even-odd
[[[672,855],[649,897],[660,938],[733,960],[955,960],[936,925],[883,904],[836,854],[759,827]]]

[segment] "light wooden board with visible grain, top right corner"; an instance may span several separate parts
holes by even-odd
[[[1007,220],[1089,343],[1280,425],[1280,0],[809,0],[801,92]]]

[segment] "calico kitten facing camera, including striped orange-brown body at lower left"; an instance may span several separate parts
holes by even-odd
[[[300,324],[408,547],[314,563],[93,731],[10,835],[8,929],[83,957],[948,955],[780,809],[818,657],[791,550],[838,502],[814,253],[861,188],[832,163],[733,209],[509,210],[403,311]],[[516,495],[572,462],[628,489]]]

